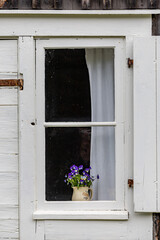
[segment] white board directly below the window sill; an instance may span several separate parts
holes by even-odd
[[[112,221],[45,222],[45,240],[126,240],[127,234],[127,224],[119,221],[115,221],[114,224]]]

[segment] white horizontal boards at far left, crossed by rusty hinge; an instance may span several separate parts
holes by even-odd
[[[17,41],[0,40],[0,79],[17,78]],[[0,88],[0,239],[18,239],[18,89]]]

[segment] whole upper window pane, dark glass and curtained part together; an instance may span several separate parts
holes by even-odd
[[[46,121],[114,121],[114,49],[45,54]]]

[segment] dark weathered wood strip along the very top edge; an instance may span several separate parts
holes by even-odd
[[[0,0],[1,9],[156,9],[159,0]]]

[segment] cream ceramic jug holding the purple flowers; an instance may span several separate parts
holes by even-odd
[[[89,187],[73,187],[72,201],[90,201],[92,195],[93,191]]]

